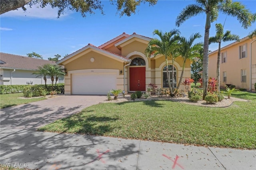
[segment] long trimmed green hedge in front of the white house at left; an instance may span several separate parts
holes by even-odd
[[[51,84],[47,84],[47,88],[49,90],[51,90],[52,85]],[[46,88],[44,84],[35,84],[35,85],[1,85],[0,86],[0,94],[9,94],[9,93],[20,93],[23,92],[24,88],[26,88],[26,93],[28,89],[32,90],[32,93],[34,92],[35,95],[39,95],[36,94],[36,91],[42,91],[45,90],[46,94],[50,94]],[[56,91],[57,93],[62,93],[64,92],[64,83],[59,83],[56,84],[56,87],[53,86],[53,91]],[[40,93],[40,92],[38,92]],[[28,95],[30,96],[30,95]],[[43,95],[42,95],[43,96]]]

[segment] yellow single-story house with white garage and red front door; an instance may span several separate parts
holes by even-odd
[[[158,88],[168,88],[164,56],[145,57],[144,51],[150,39],[136,33],[122,33],[99,47],[88,44],[58,61],[57,64],[64,65],[67,72],[65,94],[106,95],[112,89],[145,92],[150,83]],[[168,64],[171,70],[171,57]],[[174,80],[171,80],[175,87],[182,64],[182,58],[176,58]],[[172,79],[172,71],[169,74]],[[183,77],[190,77],[190,61],[186,62]],[[184,86],[181,85],[180,89],[184,89]]]

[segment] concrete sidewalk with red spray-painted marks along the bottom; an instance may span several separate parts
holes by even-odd
[[[184,146],[1,127],[1,163],[40,170],[255,170],[256,150]]]

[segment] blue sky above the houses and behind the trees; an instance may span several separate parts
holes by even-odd
[[[254,0],[240,1],[251,12],[256,12]],[[87,14],[82,18],[80,13],[66,11],[57,19],[57,10],[46,8],[27,8],[10,11],[0,15],[0,51],[26,56],[32,51],[42,55],[44,59],[59,54],[62,57],[91,43],[99,46],[110,39],[122,34],[137,34],[154,37],[154,29],[170,31],[179,29],[181,35],[190,37],[192,33],[199,32],[203,42],[205,15],[196,16],[185,21],[180,27],[175,26],[175,20],[180,11],[192,0],[159,0],[155,6],[141,4],[136,14],[130,17],[116,14],[116,6],[109,1],[102,1],[105,15],[96,10],[95,14]],[[253,23],[248,29],[231,16],[220,14],[217,21],[211,25],[210,36],[215,35],[215,24],[224,23],[224,29],[242,37],[256,28]],[[222,43],[222,47],[232,42]],[[218,48],[217,44],[210,45],[210,50]]]

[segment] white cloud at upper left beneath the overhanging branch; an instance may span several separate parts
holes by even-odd
[[[41,18],[41,19],[57,19],[58,9],[52,8],[51,6],[46,6],[45,8],[41,8],[39,5],[33,5],[30,8],[28,5],[25,6],[27,9],[25,12],[22,8],[18,8],[18,10],[13,10],[6,12],[1,15],[1,17],[27,17],[27,18]],[[64,13],[60,16],[60,18],[68,16],[71,12]]]

